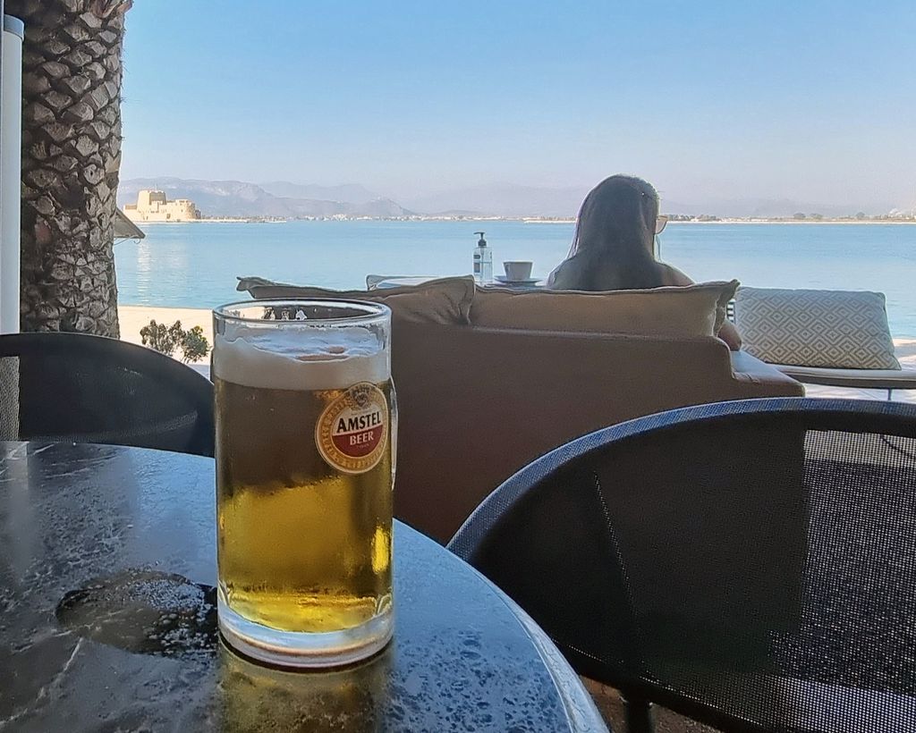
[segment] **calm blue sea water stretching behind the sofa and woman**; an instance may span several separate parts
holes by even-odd
[[[518,221],[289,221],[145,227],[115,247],[120,302],[213,307],[239,299],[236,276],[334,288],[365,275],[464,275],[475,231],[503,260],[532,260],[546,276],[569,249],[572,224]],[[878,290],[895,336],[916,337],[916,226],[893,224],[677,224],[661,256],[694,280],[759,287]],[[246,296],[246,294],[245,294]]]

